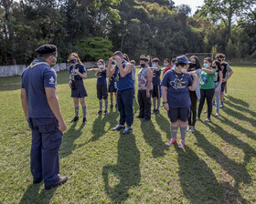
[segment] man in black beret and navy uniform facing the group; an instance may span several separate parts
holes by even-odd
[[[33,183],[44,179],[45,189],[65,183],[59,177],[59,147],[62,131],[67,129],[59,109],[53,68],[57,61],[57,46],[37,48],[37,57],[22,74],[21,100],[29,128],[32,131],[30,152]]]

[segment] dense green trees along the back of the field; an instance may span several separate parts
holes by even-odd
[[[121,50],[162,58],[193,52],[256,55],[255,0],[205,0],[195,15],[171,0],[1,0],[0,65],[28,64],[51,43],[59,61],[71,52],[83,60]]]

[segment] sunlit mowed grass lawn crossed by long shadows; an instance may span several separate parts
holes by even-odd
[[[0,203],[256,203],[256,67],[233,69],[220,117],[213,116],[208,125],[197,122],[184,149],[165,147],[171,135],[163,107],[150,122],[135,118],[133,134],[113,132],[118,112],[96,115],[94,73],[84,81],[88,124],[82,126],[81,119],[70,124],[69,74],[59,72],[59,104],[68,125],[60,173],[69,181],[50,190],[43,183],[32,185],[20,76],[1,78]]]

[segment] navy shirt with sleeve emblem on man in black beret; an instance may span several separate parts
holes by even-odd
[[[57,75],[42,58],[36,58],[22,74],[26,89],[28,117],[55,117],[46,96],[45,87],[56,87]]]

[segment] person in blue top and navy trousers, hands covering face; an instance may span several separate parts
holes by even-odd
[[[115,66],[111,67],[112,62]],[[107,76],[117,76],[117,107],[120,113],[119,125],[112,130],[123,130],[123,134],[133,131],[133,76],[132,65],[123,59],[123,53],[116,51],[109,59]],[[124,124],[126,123],[126,127]]]

